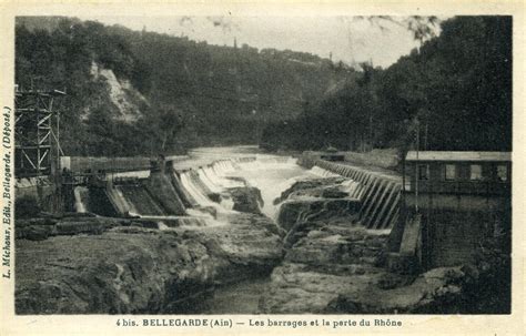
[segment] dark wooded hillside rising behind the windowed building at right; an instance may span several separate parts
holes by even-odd
[[[442,151],[512,150],[512,18],[456,17],[442,33],[387,69],[363,72],[270,124],[267,149],[416,146]]]

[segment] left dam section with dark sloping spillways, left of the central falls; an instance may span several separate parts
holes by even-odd
[[[216,161],[181,172],[168,165],[162,172],[138,171],[131,176],[122,173],[117,179],[109,173],[102,186],[74,189],[75,210],[128,217],[183,217],[189,216],[188,210],[194,210],[194,215],[195,211],[202,211],[202,215],[227,213],[233,203],[225,190],[246,186],[242,181],[225,177],[240,169],[234,166],[236,162]]]

